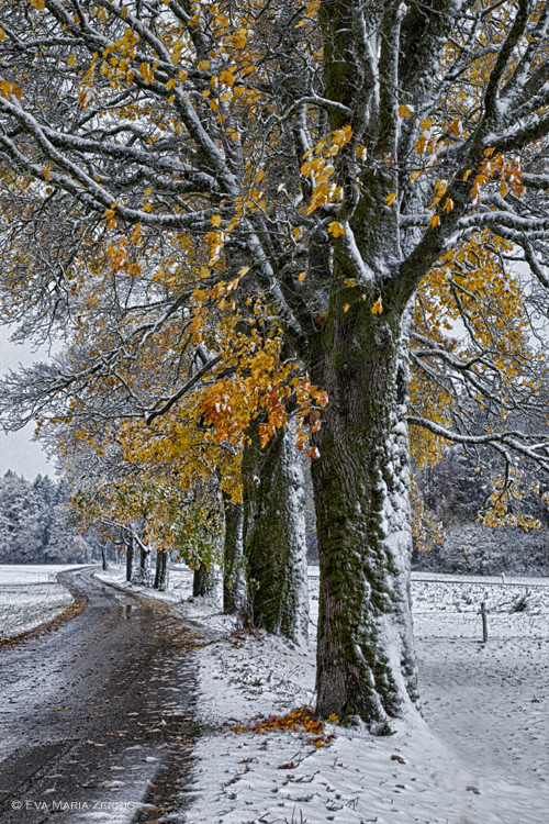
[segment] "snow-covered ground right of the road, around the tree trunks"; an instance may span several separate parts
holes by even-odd
[[[187,598],[191,576],[179,576],[177,590],[155,597]],[[100,577],[122,581],[123,570]],[[167,812],[159,821],[546,824],[549,589],[535,589],[536,581],[497,589],[494,579],[484,591],[486,581],[478,578],[437,578],[442,580],[427,583],[414,576],[413,583],[428,726],[408,719],[395,735],[377,738],[363,728],[330,724],[325,734],[335,737],[321,747],[307,743],[315,736],[305,732],[234,731],[253,726],[258,716],[314,703],[314,638],[309,648],[296,649],[264,633],[232,633],[214,600],[179,603],[206,635],[197,653],[195,712],[210,732],[194,749],[194,783],[182,797],[187,812]],[[316,592],[313,578],[312,631]],[[525,609],[516,612],[522,597]],[[485,645],[480,600],[491,613]]]

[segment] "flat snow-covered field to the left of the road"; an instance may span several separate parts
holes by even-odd
[[[57,574],[82,565],[0,565],[0,641],[52,621],[74,599]]]

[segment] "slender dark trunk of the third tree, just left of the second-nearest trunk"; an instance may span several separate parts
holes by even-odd
[[[223,493],[225,509],[225,546],[223,552],[223,612],[236,615],[246,603],[246,578],[243,557],[242,503],[233,503],[231,497]]]

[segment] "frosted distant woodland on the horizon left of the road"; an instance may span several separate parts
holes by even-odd
[[[8,470],[0,478],[0,564],[70,564],[100,557],[81,534],[64,479],[33,481]]]

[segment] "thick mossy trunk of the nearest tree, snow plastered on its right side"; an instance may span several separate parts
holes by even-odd
[[[345,293],[344,293],[345,294]],[[341,292],[313,374],[329,403],[314,436],[321,598],[317,713],[379,734],[416,699],[410,597],[406,361],[402,314],[345,312]]]

